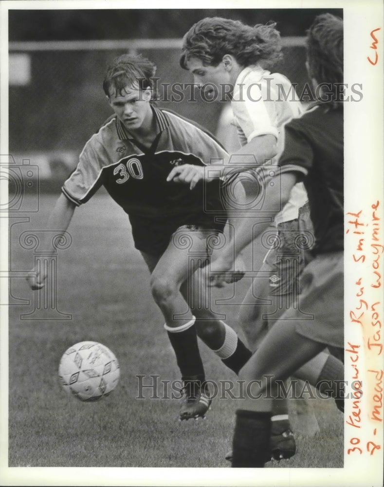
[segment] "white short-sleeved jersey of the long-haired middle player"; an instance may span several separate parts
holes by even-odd
[[[231,107],[241,145],[259,135],[276,137],[277,155],[273,163],[284,148],[284,125],[303,112],[289,79],[258,66],[248,66],[238,75]],[[276,215],[275,224],[297,218],[299,208],[307,201],[304,186],[295,185],[290,200]]]

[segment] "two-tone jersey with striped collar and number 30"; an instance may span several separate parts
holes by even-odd
[[[87,142],[62,191],[81,205],[104,186],[128,213],[136,247],[153,253],[165,250],[168,234],[179,226],[222,229],[225,211],[219,180],[201,182],[190,190],[189,185],[167,182],[166,177],[181,164],[221,162],[227,152],[194,122],[168,110],[152,107],[152,111],[158,127],[153,149],[140,148],[124,124],[113,117]],[[220,223],[217,215],[221,215]]]

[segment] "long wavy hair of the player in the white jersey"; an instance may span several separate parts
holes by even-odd
[[[240,66],[256,63],[263,68],[272,66],[281,57],[281,39],[275,22],[254,27],[239,20],[207,17],[194,24],[183,37],[180,65],[187,69],[191,57],[204,66],[218,66],[225,54],[235,57]]]

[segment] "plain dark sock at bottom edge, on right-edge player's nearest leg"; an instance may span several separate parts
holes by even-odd
[[[238,410],[232,445],[232,467],[264,467],[271,436],[271,413]]]

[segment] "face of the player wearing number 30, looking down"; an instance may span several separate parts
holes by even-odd
[[[129,131],[150,130],[152,110],[149,104],[150,89],[140,90],[137,86],[126,86],[121,93],[110,93],[109,102],[117,117]]]

